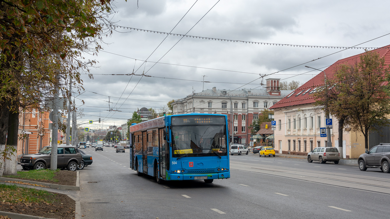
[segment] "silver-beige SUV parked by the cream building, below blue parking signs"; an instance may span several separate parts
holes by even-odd
[[[335,164],[338,164],[340,159],[340,153],[336,147],[316,147],[307,154],[307,161],[309,163],[317,160],[320,163],[333,161]]]

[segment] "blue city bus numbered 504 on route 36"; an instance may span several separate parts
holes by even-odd
[[[230,178],[227,116],[163,116],[129,127],[130,166],[138,176],[169,180]]]

